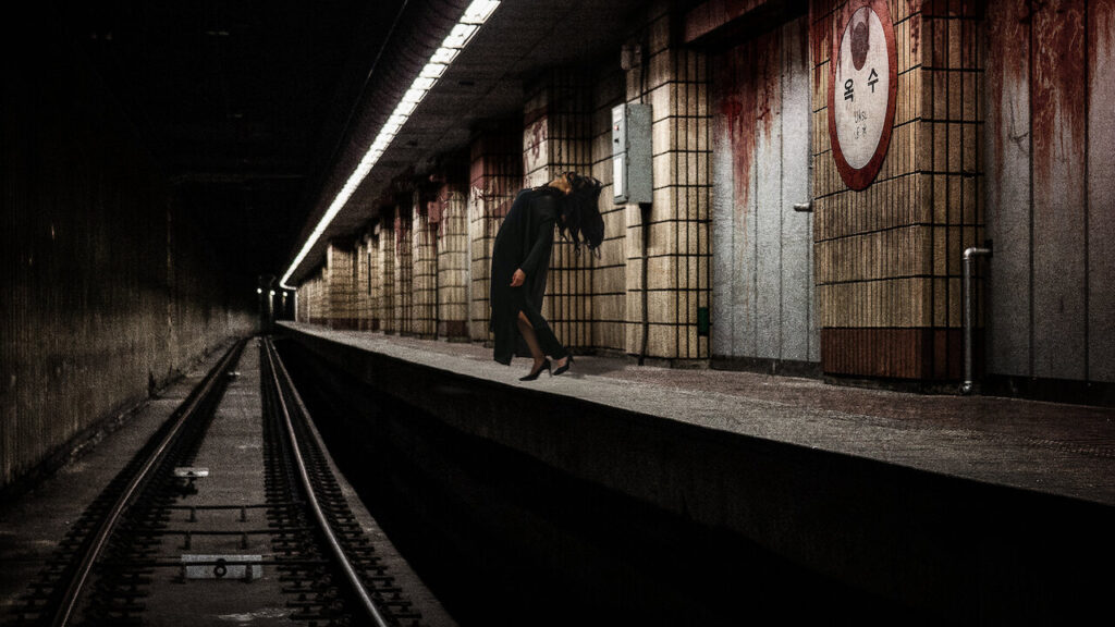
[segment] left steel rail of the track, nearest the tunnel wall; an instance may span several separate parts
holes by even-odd
[[[210,393],[213,390],[213,386],[220,379],[221,375],[224,374],[235,355],[239,355],[239,348],[243,347],[244,340],[236,343],[229,351],[221,358],[213,370],[205,377],[202,385],[197,388],[197,394],[192,395],[187,398],[183,405],[180,407],[178,418],[175,421],[174,425],[167,431],[159,441],[158,446],[144,462],[144,465],[132,476],[127,486],[116,499],[113,504],[113,509],[109,510],[108,514],[101,519],[100,524],[97,528],[96,533],[93,536],[93,540],[89,544],[88,550],[81,556],[81,561],[77,567],[77,570],[70,577],[69,583],[66,587],[66,591],[62,594],[61,602],[58,606],[58,611],[50,619],[50,625],[52,627],[62,627],[68,625],[70,618],[74,616],[74,609],[77,606],[77,599],[81,595],[83,588],[85,588],[86,582],[89,580],[89,575],[93,572],[93,566],[96,563],[97,558],[100,556],[100,551],[108,543],[108,539],[113,536],[113,531],[116,529],[116,524],[124,511],[132,504],[133,498],[139,491],[139,488],[146,483],[151,471],[155,469],[165,457],[171,445],[174,443],[178,433],[182,432],[183,425],[194,416],[194,412],[197,411],[198,405],[205,399],[207,399]]]

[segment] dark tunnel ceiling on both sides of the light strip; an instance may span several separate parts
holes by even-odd
[[[117,0],[57,13],[165,171],[174,202],[230,272],[254,280],[285,271],[386,118],[378,109],[394,108],[417,73],[403,61],[420,69],[467,4]],[[599,55],[639,4],[505,0],[359,197],[465,147],[484,120],[521,115],[524,78]],[[329,237],[352,234],[371,210],[351,202],[295,280],[320,263]]]

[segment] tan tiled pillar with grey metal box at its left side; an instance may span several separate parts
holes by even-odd
[[[644,212],[638,205],[626,210],[624,341],[628,354],[678,366],[709,357],[698,321],[710,291],[708,64],[675,40],[679,19],[670,3],[655,2],[644,37],[630,41],[642,54],[627,73],[627,100],[652,107],[655,191],[646,234]]]

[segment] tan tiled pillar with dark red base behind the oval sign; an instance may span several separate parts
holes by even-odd
[[[853,190],[834,162],[827,110],[830,57],[846,10],[812,3],[814,233],[826,374],[961,376],[961,253],[983,240],[983,110],[973,9],[953,8],[891,3],[898,97],[890,145],[875,179]]]

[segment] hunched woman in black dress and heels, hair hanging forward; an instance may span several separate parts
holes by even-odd
[[[600,189],[600,181],[566,172],[541,187],[523,190],[495,237],[491,301],[495,360],[510,365],[516,354],[533,357],[531,373],[520,380],[534,380],[542,370],[560,375],[573,363],[542,317],[542,297],[555,225],[562,235],[569,233],[579,251],[582,243],[594,250],[603,240],[604,223],[597,208]]]

